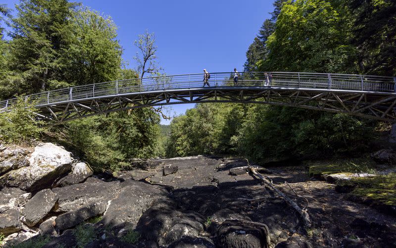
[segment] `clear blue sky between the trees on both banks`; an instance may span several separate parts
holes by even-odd
[[[19,0],[2,3],[14,8]],[[134,68],[133,42],[146,29],[155,34],[158,62],[167,75],[243,70],[253,42],[273,0],[82,0],[109,15],[118,26],[123,58]],[[12,14],[15,14],[13,11]],[[181,114],[193,104],[173,105]],[[162,120],[162,124],[169,121]]]

